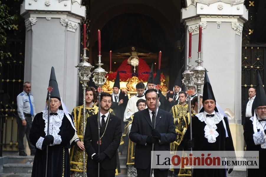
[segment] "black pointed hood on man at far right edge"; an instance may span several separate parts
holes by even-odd
[[[266,94],[258,70],[257,70],[256,97],[254,99],[254,102],[255,102],[255,108],[259,106],[266,106]]]

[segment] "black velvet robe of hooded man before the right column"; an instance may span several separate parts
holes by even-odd
[[[216,141],[214,143],[209,143],[208,139],[205,138],[204,127],[206,123],[201,122],[197,116],[192,117],[192,138],[194,138],[194,148],[193,151],[234,151],[233,140],[231,136],[231,132],[229,129],[229,123],[227,118],[224,117],[224,122],[226,125],[228,137],[226,137],[226,131],[223,125],[223,121],[221,120],[216,124],[216,131],[219,133],[219,136],[216,137]],[[187,142],[190,139],[190,125],[188,126],[187,131],[184,136],[184,149],[188,151]],[[224,154],[225,155],[225,154]],[[230,156],[235,156],[233,154],[227,154]],[[226,168],[215,168],[215,169],[193,169],[193,177],[226,177]]]

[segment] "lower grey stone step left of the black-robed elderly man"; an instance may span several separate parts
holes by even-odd
[[[3,165],[3,173],[31,173],[32,164],[6,163]]]

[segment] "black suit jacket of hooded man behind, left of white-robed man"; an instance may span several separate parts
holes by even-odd
[[[111,106],[111,109],[114,110],[114,113],[117,117],[121,118],[122,120],[124,119],[124,112],[125,112],[125,109],[127,107],[127,102],[128,102],[128,96],[122,92],[120,92],[119,96],[118,96],[118,102],[120,100],[123,99],[123,103],[118,105],[118,103],[115,102],[115,100],[113,100],[113,96],[112,96],[112,106]]]

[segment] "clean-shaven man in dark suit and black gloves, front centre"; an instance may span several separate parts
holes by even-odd
[[[137,176],[149,176],[151,169],[151,151],[170,151],[170,143],[175,141],[176,133],[171,113],[157,108],[155,89],[145,92],[147,109],[136,112],[132,122],[129,138],[136,143],[135,167]],[[157,100],[157,106],[159,99]],[[154,149],[152,144],[154,143]],[[170,152],[169,152],[170,153]],[[167,177],[168,169],[154,169],[154,176]]]

